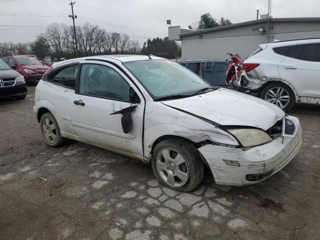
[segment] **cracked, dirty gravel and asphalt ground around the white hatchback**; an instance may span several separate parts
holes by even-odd
[[[190,193],[149,165],[68,140],[47,146],[25,100],[0,101],[0,239],[319,239],[320,107],[297,106],[303,143],[267,180]]]

